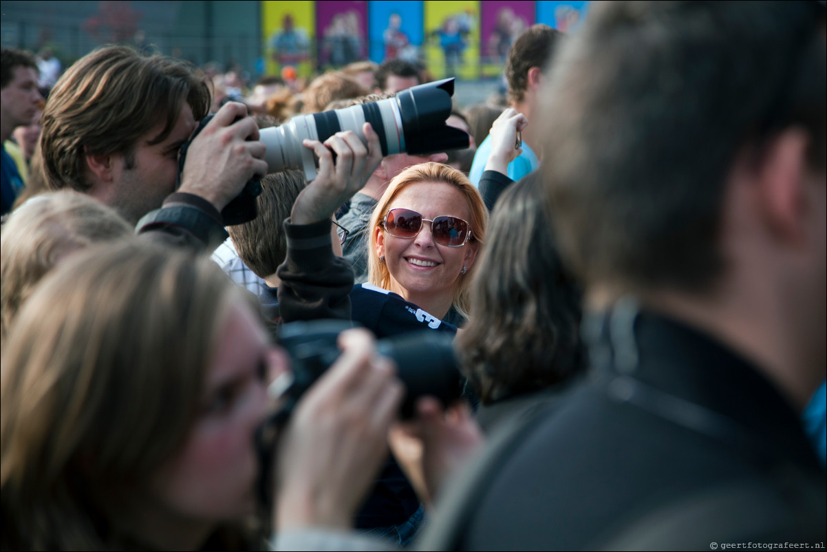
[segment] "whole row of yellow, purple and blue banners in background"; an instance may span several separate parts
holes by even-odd
[[[436,79],[494,78],[502,73],[509,46],[520,32],[535,22],[576,31],[588,4],[585,0],[270,0],[261,2],[264,65],[267,74],[295,78],[351,61],[381,63],[398,57],[423,60]]]

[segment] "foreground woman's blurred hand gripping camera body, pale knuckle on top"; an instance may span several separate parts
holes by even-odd
[[[338,338],[342,355],[299,401],[276,459],[275,526],[351,527],[388,451],[404,394],[393,362],[366,330]]]

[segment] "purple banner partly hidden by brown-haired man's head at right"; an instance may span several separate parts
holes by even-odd
[[[480,17],[480,62],[482,76],[495,77],[503,72],[509,48],[529,26],[534,24],[537,2],[521,0],[485,0]]]

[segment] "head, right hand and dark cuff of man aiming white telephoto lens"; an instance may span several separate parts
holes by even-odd
[[[195,138],[178,190],[178,151],[207,115],[208,84],[190,65],[123,46],[85,55],[66,70],[43,113],[48,185],[73,188],[141,231],[163,228],[205,247],[225,234],[221,209],[264,175],[265,146],[240,103],[227,103]]]

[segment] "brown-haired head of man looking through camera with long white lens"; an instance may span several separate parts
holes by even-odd
[[[174,191],[179,147],[209,105],[206,80],[183,61],[123,46],[85,55],[43,113],[50,188],[92,194],[136,222]]]

